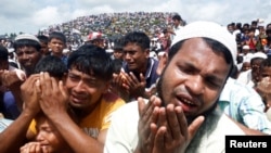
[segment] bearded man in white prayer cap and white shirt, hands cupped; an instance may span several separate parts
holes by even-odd
[[[224,152],[227,135],[244,135],[217,107],[236,53],[234,37],[220,24],[184,26],[160,65],[157,95],[115,112],[104,152]]]

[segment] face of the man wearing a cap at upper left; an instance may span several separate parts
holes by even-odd
[[[40,51],[34,47],[17,48],[16,54],[21,66],[27,71],[33,71],[41,58]]]

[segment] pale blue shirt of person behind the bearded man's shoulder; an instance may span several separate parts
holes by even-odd
[[[229,78],[218,104],[227,115],[246,127],[271,133],[271,123],[264,114],[264,103],[250,86]]]

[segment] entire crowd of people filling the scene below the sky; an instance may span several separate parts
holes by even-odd
[[[225,136],[271,135],[270,49],[271,24],[259,20],[158,12],[18,35],[0,46],[0,150],[225,152]]]

